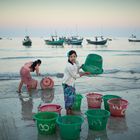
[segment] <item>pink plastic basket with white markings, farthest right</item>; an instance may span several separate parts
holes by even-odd
[[[128,107],[128,101],[122,98],[113,98],[108,100],[110,113],[112,116],[123,117]]]

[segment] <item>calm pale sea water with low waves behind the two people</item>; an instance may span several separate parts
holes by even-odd
[[[61,86],[67,52],[73,49],[77,52],[80,64],[84,64],[90,53],[103,57],[104,73],[78,79],[77,90],[98,92],[139,88],[140,43],[128,42],[127,38],[113,38],[103,46],[89,45],[85,40],[82,46],[48,46],[43,38],[32,38],[32,42],[31,47],[26,47],[22,46],[22,38],[0,40],[0,83],[19,81],[19,71],[24,63],[41,59],[42,77],[51,76],[55,79],[55,85]],[[35,73],[32,75],[36,78]],[[11,91],[16,88],[17,85],[12,84],[8,87]]]

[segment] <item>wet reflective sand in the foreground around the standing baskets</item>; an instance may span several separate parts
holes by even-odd
[[[10,81],[10,83],[6,81],[0,83],[5,88],[3,90],[5,92],[1,92],[0,94],[0,140],[60,140],[58,130],[54,135],[39,135],[32,115],[37,112],[38,106],[45,102],[62,105],[62,115],[65,115],[62,87],[55,85],[54,89],[49,92],[43,90],[32,91],[31,97],[27,98],[26,92],[22,93],[23,96],[19,96],[18,93],[13,92],[15,86],[13,86],[13,89],[8,89],[8,84],[18,85],[18,80]],[[88,129],[87,119],[84,115],[84,112],[87,110],[86,92],[82,92],[79,86],[76,86],[76,88],[84,96],[81,105],[84,123],[82,125],[80,140],[140,139],[139,89],[100,92],[103,95],[113,94],[121,96],[129,101],[129,105],[125,117],[110,117],[106,130],[96,132]],[[104,108],[103,103],[102,108]]]

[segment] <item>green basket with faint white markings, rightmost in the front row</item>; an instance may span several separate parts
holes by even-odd
[[[107,120],[110,112],[104,109],[90,109],[86,113],[88,119],[89,129],[104,130],[106,129]]]

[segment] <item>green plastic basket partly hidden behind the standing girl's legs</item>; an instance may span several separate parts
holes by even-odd
[[[74,104],[72,106],[72,110],[80,111],[81,110],[81,101],[83,96],[81,94],[76,94]]]

